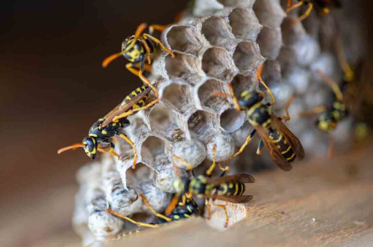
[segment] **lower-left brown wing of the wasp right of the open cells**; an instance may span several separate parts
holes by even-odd
[[[269,139],[268,131],[264,130],[260,126],[255,127],[256,132],[263,140],[264,145],[268,148],[268,152],[270,153],[271,159],[273,162],[280,167],[282,170],[291,170],[293,167],[291,164],[284,158],[281,152],[277,149],[276,145]]]

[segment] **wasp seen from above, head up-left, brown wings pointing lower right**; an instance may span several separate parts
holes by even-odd
[[[281,122],[290,120],[288,108],[290,106],[292,97],[290,98],[286,107],[287,116],[276,117],[271,113],[271,106],[276,102],[276,99],[271,92],[271,89],[266,85],[261,77],[263,66],[256,70],[257,79],[267,89],[271,95],[272,101],[266,104],[262,103],[264,98],[263,92],[254,90],[245,90],[240,93],[239,99],[234,95],[231,85],[229,86],[231,95],[225,93],[215,92],[216,95],[224,97],[233,97],[234,104],[237,110],[245,110],[249,123],[254,127],[254,130],[246,138],[245,143],[240,147],[237,153],[233,154],[228,159],[222,161],[225,163],[238,154],[241,154],[245,147],[249,144],[255,133],[258,133],[261,140],[258,144],[257,154],[260,154],[263,145],[269,150],[271,159],[282,170],[291,170],[291,162],[298,157],[302,160],[305,156],[303,146],[299,139],[288,129],[288,127]]]

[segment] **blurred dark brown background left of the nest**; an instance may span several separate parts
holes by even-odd
[[[141,22],[167,24],[173,0],[17,0],[0,7],[0,246],[31,246],[70,227],[81,141],[140,80],[106,56]],[[74,235],[72,235],[74,236]],[[48,246],[48,245],[47,245]]]

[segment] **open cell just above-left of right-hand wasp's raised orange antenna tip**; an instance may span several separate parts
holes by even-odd
[[[264,62],[264,58],[259,51],[259,46],[252,41],[238,43],[233,54],[233,60],[239,72],[243,75],[247,75],[255,67]]]

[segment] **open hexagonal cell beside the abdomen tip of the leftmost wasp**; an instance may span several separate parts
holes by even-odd
[[[185,114],[191,108],[194,108],[193,96],[191,94],[190,86],[188,85],[171,83],[163,91],[162,101],[167,107],[182,114]]]

